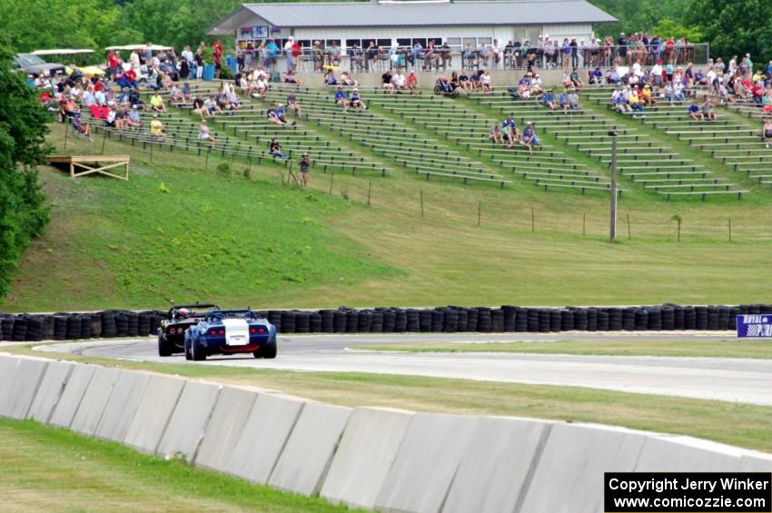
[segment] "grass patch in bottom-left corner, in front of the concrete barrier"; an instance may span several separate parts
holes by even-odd
[[[0,419],[4,511],[343,511],[35,421]]]

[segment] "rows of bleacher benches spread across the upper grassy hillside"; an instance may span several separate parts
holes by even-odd
[[[217,87],[193,84],[192,93],[204,97],[216,92]],[[287,118],[295,123],[272,123],[266,116],[267,104],[286,104],[290,92],[301,104],[302,116],[295,118],[287,112]],[[611,92],[608,87],[584,91],[581,103],[608,105]],[[145,131],[117,131],[104,128],[99,120],[92,123],[106,130],[106,135],[133,144],[217,153],[250,163],[267,159],[286,165],[287,161],[269,154],[268,144],[276,137],[292,160],[309,153],[312,166],[325,173],[340,170],[385,175],[388,169],[406,169],[426,180],[436,177],[461,183],[495,183],[504,188],[522,179],[544,190],[575,190],[582,194],[609,191],[609,174],[604,168],[611,163],[608,133],[615,130],[619,134],[619,173],[644,190],[665,195],[668,200],[688,196],[705,200],[708,195],[739,198],[749,192],[716,173],[715,168],[705,169],[703,163],[683,156],[649,131],[638,130],[621,119],[609,123],[617,116],[631,114],[599,113],[597,109],[551,111],[533,100],[513,100],[505,90],[470,94],[470,100],[453,100],[431,91],[385,94],[380,88],[361,88],[370,108],[346,113],[341,105],[334,104],[332,88],[272,84],[262,103],[242,98],[241,109],[208,118],[216,137],[213,144],[198,139],[199,118],[193,113],[193,104],[172,103],[168,93],[162,95],[168,107],[167,113],[159,114],[166,133],[163,141],[151,138]],[[738,113],[759,118],[765,115],[749,102],[729,106]],[[527,122],[536,128],[541,144],[533,153],[519,144],[508,148],[490,141],[490,128],[510,114],[520,130]],[[772,184],[772,150],[735,114],[717,114],[716,122],[698,123],[689,119],[687,105],[660,103],[647,107],[645,117],[636,117],[674,140],[707,152],[727,165],[727,171],[745,172],[760,184]],[[151,113],[142,116],[146,129]],[[89,113],[84,112],[84,121],[89,121]],[[567,153],[566,147],[576,153]],[[358,151],[361,148],[366,151]],[[571,156],[577,153],[591,160]]]

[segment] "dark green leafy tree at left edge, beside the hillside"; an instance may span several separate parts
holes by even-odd
[[[0,36],[0,296],[16,261],[48,222],[35,164],[48,151],[47,115],[25,75],[12,69],[10,44]]]

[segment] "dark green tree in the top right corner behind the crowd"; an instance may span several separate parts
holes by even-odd
[[[692,0],[686,22],[698,25],[710,54],[750,53],[755,63],[772,58],[772,2],[769,0]]]

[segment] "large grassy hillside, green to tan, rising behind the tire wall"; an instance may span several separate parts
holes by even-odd
[[[455,102],[464,115],[498,115],[485,104]],[[591,104],[588,111],[668,143],[648,124],[619,121],[618,114]],[[772,193],[760,186],[740,179],[751,190],[740,201],[668,202],[623,178],[630,193],[620,201],[619,243],[610,245],[608,192],[543,192],[522,180],[517,167],[502,169],[488,153],[475,153],[420,120],[403,119],[378,102],[370,112],[384,126],[406,126],[416,141],[436,141],[458,162],[479,160],[511,183],[500,190],[490,183],[427,181],[378,147],[360,143],[357,134],[349,137],[338,125],[313,118],[299,126],[339,145],[338,151],[361,153],[386,175],[316,168],[312,188],[302,191],[286,183],[282,165],[250,164],[244,178],[247,163],[239,160],[225,176],[217,166],[228,159],[150,153],[110,138],[104,153],[133,157],[131,181],[71,181],[44,168],[52,223],[25,252],[0,308],[162,308],[196,300],[261,308],[733,303],[768,297]],[[326,119],[322,115],[320,110],[317,121]],[[467,129],[480,143],[489,129],[485,123]],[[218,133],[224,135],[222,127]],[[552,136],[545,140],[550,150],[608,175],[587,154]],[[61,125],[53,126],[50,142],[64,152]],[[66,153],[99,153],[102,143],[100,133],[95,143],[70,138]],[[672,147],[720,176],[731,175],[688,144]],[[680,242],[675,215],[683,220]]]

